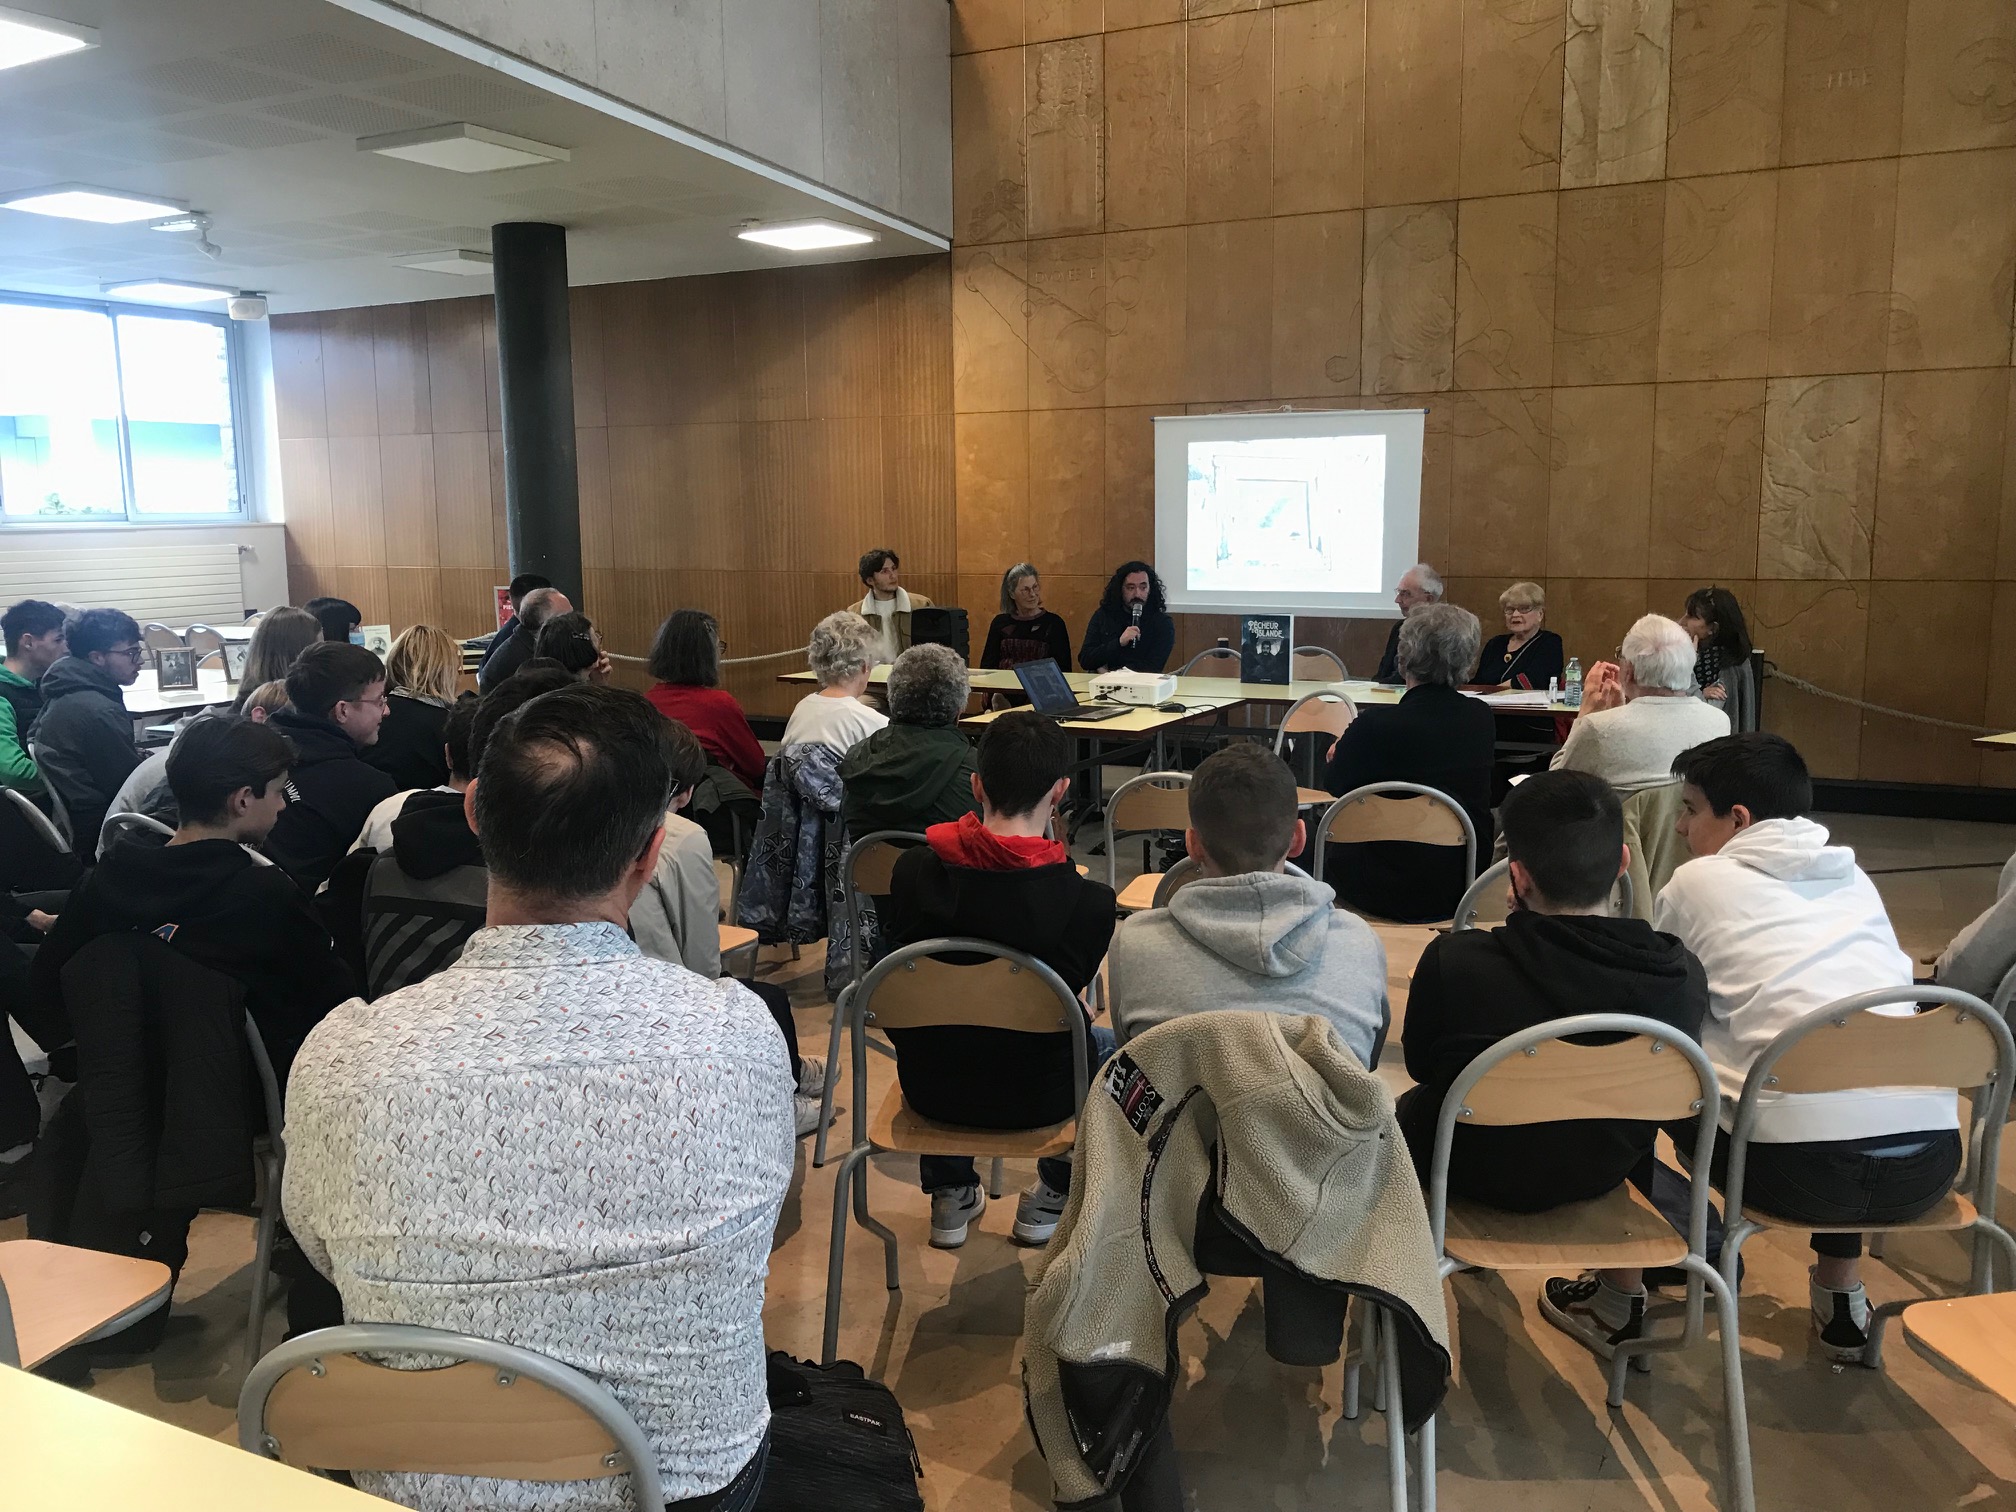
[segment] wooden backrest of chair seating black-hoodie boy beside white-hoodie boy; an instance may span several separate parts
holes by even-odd
[[[1633,1034],[1617,1044],[1542,1040],[1510,1054],[1470,1089],[1458,1123],[1691,1117],[1702,1081],[1687,1056]]]

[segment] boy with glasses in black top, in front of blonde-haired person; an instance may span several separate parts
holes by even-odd
[[[286,812],[266,837],[266,855],[304,889],[329,881],[371,810],[399,784],[357,752],[385,720],[385,663],[361,645],[321,641],[286,673],[288,706],[272,728],[294,742]]]

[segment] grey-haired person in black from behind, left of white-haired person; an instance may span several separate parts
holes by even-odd
[[[1417,782],[1454,798],[1492,851],[1492,754],[1498,722],[1460,683],[1478,665],[1484,631],[1452,603],[1413,609],[1401,623],[1395,661],[1407,691],[1393,708],[1367,708],[1337,738],[1327,786],[1335,794],[1371,782]],[[1470,887],[1460,847],[1411,841],[1333,845],[1325,881],[1353,909],[1399,923],[1447,919]]]

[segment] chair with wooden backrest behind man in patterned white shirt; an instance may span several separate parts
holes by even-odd
[[[454,1363],[395,1371],[367,1353]],[[401,1322],[317,1329],[276,1347],[238,1391],[238,1447],[312,1472],[627,1474],[633,1506],[665,1506],[657,1454],[609,1387],[518,1345]]]

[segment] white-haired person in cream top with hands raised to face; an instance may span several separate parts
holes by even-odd
[[[1679,752],[1730,732],[1730,716],[1693,696],[1693,637],[1665,615],[1645,615],[1583,685],[1583,712],[1554,766],[1591,772],[1631,794],[1673,780]]]

